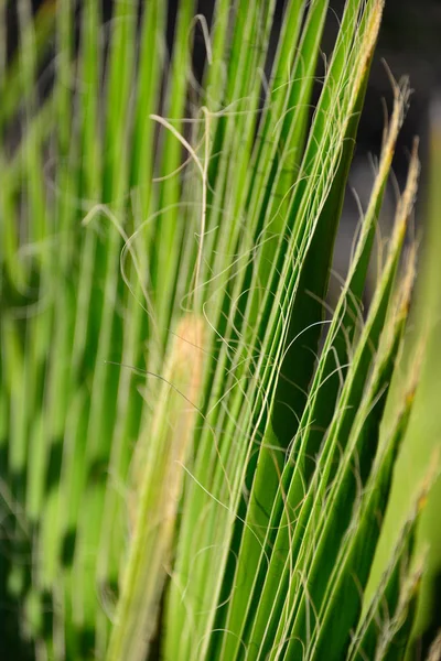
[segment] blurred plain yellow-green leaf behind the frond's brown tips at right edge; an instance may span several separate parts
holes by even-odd
[[[439,291],[439,253],[441,234],[439,227],[438,172],[441,167],[440,115],[437,100],[432,102],[430,122],[430,162],[428,195],[424,209],[424,241],[420,257],[417,295],[411,313],[411,323],[407,334],[404,357],[397,366],[391,386],[389,409],[402,397],[402,383],[406,382],[409,364],[419,345],[424,343],[421,355],[421,376],[413,407],[412,419],[406,435],[402,452],[397,460],[395,484],[390,494],[387,517],[384,522],[381,540],[373,566],[368,593],[375,589],[384,568],[387,549],[394,545],[400,522],[407,516],[415,498],[415,490],[427,474],[430,464],[439,462],[441,426],[437,414],[440,399],[440,291]],[[386,412],[386,416],[387,416]],[[440,532],[438,509],[441,483],[438,478],[433,486],[419,527],[419,546],[426,553],[426,571],[422,576],[420,598],[413,631],[413,644],[410,646],[409,659],[421,657],[421,649],[427,648],[440,627]],[[438,643],[439,644],[439,643]],[[438,655],[440,647],[438,647]],[[435,655],[433,658],[437,658]]]

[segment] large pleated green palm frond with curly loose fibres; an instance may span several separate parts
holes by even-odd
[[[0,111],[3,136],[19,110],[25,126],[0,155],[1,599],[20,605],[37,659],[137,661],[155,636],[170,660],[404,657],[435,469],[370,600],[364,590],[421,361],[380,434],[415,275],[411,248],[396,282],[419,166],[415,149],[364,319],[408,101],[395,86],[325,319],[383,1],[347,1],[311,118],[327,4],[289,0],[267,80],[275,0],[218,0],[209,34],[181,0],[170,63],[163,2],[146,3],[138,41],[133,3],[117,2],[103,48],[86,0],[78,53],[73,2],[46,3],[55,79],[40,107],[45,42],[20,3]]]

